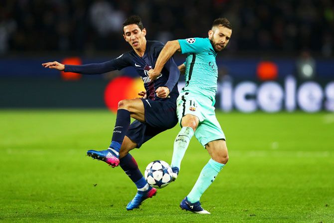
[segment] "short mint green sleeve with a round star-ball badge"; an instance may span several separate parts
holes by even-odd
[[[178,39],[182,54],[184,53],[199,53],[208,47],[207,38],[187,38]]]

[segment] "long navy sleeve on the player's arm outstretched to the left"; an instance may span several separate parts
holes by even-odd
[[[104,63],[90,63],[84,65],[65,65],[65,72],[75,72],[81,74],[102,74],[113,70],[121,70],[131,66],[127,56],[122,54],[116,59]]]

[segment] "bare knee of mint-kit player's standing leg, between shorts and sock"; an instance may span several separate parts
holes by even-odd
[[[227,163],[228,151],[225,140],[219,139],[208,142],[205,148],[214,161],[222,164]]]

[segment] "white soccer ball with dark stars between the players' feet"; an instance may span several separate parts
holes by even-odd
[[[166,187],[172,179],[171,167],[163,160],[156,160],[147,165],[145,180],[154,188]]]

